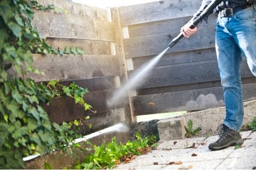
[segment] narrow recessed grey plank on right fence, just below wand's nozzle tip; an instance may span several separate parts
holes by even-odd
[[[146,62],[149,62],[154,57],[155,55],[132,58],[134,69],[140,68],[141,65],[145,64]],[[182,51],[177,53],[164,54],[155,67],[210,61],[215,59],[217,59],[215,48]]]

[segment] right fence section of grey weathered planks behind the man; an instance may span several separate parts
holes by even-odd
[[[164,0],[120,7],[128,74],[166,49],[200,5],[201,0]],[[197,34],[183,38],[161,58],[137,95],[131,96],[134,116],[224,105],[215,54],[216,19],[211,14]],[[241,71],[244,101],[255,99],[256,79],[245,61]]]

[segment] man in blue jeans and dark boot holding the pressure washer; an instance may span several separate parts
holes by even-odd
[[[242,54],[247,59],[250,71],[256,76],[256,0],[225,0],[213,12],[218,14],[215,48],[218,68],[223,86],[226,117],[218,126],[219,139],[209,144],[210,150],[242,144],[239,134],[243,118],[243,93],[241,85]],[[198,17],[211,0],[203,0],[194,18]],[[207,20],[207,19],[206,19]],[[197,31],[186,24],[180,29],[189,38]]]

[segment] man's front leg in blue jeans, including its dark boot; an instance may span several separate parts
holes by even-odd
[[[210,150],[220,150],[234,144],[242,144],[238,132],[243,120],[243,93],[241,86],[241,51],[227,26],[231,18],[218,18],[216,25],[216,51],[218,68],[223,86],[226,117],[218,127],[219,139],[209,144]]]

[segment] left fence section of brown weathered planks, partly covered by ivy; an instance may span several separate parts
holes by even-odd
[[[124,108],[110,109],[107,106],[108,94],[118,87],[122,72],[115,50],[116,26],[108,18],[106,10],[66,0],[38,0],[38,3],[53,4],[56,8],[55,11],[35,10],[32,22],[49,45],[62,50],[65,47],[79,47],[86,54],[34,54],[34,67],[44,74],[29,76],[36,82],[59,79],[64,85],[75,80],[81,87],[88,88],[90,92],[84,96],[84,101],[96,111],[84,111],[70,97],[59,96],[49,105],[44,105],[50,120],[61,123],[89,115],[88,123],[92,123],[92,129],[83,128],[85,133],[127,121]],[[65,12],[58,13],[58,9]]]

